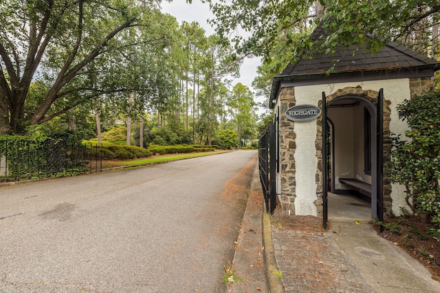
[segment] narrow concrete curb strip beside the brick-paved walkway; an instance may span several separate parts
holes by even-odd
[[[278,279],[275,272],[278,271],[275,260],[275,248],[272,241],[272,228],[270,225],[270,215],[263,211],[263,255],[265,262],[265,275],[267,289],[272,293],[284,293],[284,285],[281,279]]]

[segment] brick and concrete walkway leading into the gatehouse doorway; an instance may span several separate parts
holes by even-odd
[[[263,238],[272,236],[272,255],[282,274],[278,281],[282,286],[268,282],[269,291],[440,292],[440,283],[430,272],[377,235],[370,221],[368,202],[329,194],[328,232],[272,229],[272,235],[265,233]],[[267,225],[270,221],[263,220],[263,231]],[[270,258],[271,252],[264,251]]]

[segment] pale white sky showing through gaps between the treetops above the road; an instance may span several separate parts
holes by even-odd
[[[206,35],[214,34],[214,29],[208,24],[208,19],[213,19],[214,15],[210,12],[208,3],[201,3],[200,0],[192,0],[191,4],[186,0],[174,0],[170,3],[162,1],[162,12],[175,16],[178,23],[186,21],[192,23],[196,21],[206,31]],[[256,76],[256,68],[261,65],[259,58],[246,58],[240,69],[240,78],[232,81],[232,86],[241,82],[254,92],[252,81]]]

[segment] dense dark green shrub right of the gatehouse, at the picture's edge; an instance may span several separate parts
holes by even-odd
[[[440,231],[440,90],[406,99],[398,112],[410,129],[406,139],[392,137],[388,175],[406,187],[411,209],[432,218]]]

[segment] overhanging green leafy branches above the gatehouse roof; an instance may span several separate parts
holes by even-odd
[[[437,0],[206,0],[222,36],[235,34],[239,54],[264,57],[279,73],[287,62],[336,45],[366,44],[377,51],[387,40],[430,56],[439,51],[440,4]],[[322,25],[324,38],[311,39]],[[355,52],[353,52],[355,54]]]

